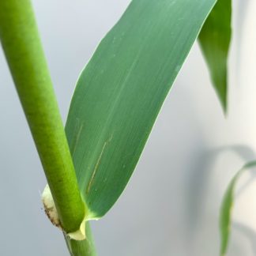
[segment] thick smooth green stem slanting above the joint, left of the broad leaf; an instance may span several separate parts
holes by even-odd
[[[85,206],[30,1],[0,0],[0,39],[62,227],[76,231]]]

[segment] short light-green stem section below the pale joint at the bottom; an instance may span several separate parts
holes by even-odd
[[[96,249],[92,238],[90,224],[86,222],[86,240],[76,241],[64,234],[66,245],[71,256],[96,256]]]

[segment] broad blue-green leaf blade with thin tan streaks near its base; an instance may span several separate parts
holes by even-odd
[[[81,73],[66,134],[88,219],[104,216],[124,190],[215,2],[132,1]]]

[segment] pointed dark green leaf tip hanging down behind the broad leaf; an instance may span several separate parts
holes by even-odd
[[[220,103],[228,107],[228,49],[232,36],[232,0],[218,0],[199,35],[201,50],[209,66]]]

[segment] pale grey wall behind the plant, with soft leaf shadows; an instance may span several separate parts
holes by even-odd
[[[78,74],[128,2],[33,1],[64,120]],[[130,184],[92,223],[100,256],[218,255],[221,197],[256,147],[255,13],[254,0],[234,2],[228,119],[196,43]],[[67,256],[61,232],[42,210],[46,181],[2,51],[0,119],[0,255]],[[228,255],[255,255],[256,183],[239,191]]]

